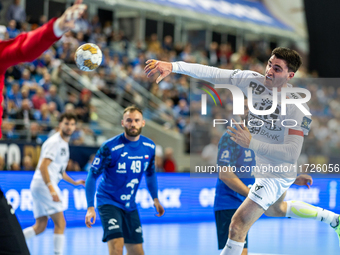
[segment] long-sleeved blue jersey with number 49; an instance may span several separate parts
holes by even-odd
[[[137,209],[135,197],[143,173],[152,198],[157,198],[154,142],[145,136],[132,142],[124,133],[113,137],[98,150],[86,180],[88,207],[94,206],[93,179],[103,174],[97,190],[97,206],[111,204],[126,211]],[[94,183],[95,186],[95,183]]]

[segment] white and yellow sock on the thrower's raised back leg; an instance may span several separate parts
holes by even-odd
[[[339,224],[338,214],[301,201],[287,201],[286,217],[314,219],[330,224],[333,228]]]

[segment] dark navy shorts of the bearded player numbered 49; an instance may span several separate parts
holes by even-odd
[[[143,243],[138,210],[128,212],[114,205],[101,205],[98,212],[104,230],[103,242],[123,237],[124,243]]]

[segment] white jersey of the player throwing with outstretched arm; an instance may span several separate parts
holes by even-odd
[[[208,81],[212,84],[232,84],[239,87],[248,98],[252,96],[253,106],[256,110],[270,109],[273,104],[273,92],[264,85],[265,77],[257,72],[225,70],[197,64],[187,64],[184,62],[175,62],[172,63],[172,66],[173,72],[175,73],[187,74],[194,78]],[[288,86],[292,87],[290,84],[288,84]],[[252,87],[252,95],[248,95],[249,87]],[[287,93],[287,96],[289,98],[301,98],[301,96],[297,93]],[[311,124],[310,116],[305,116],[301,110],[293,104],[287,104],[286,115],[282,115],[280,92],[278,92],[277,99],[277,108],[275,112],[270,115],[259,116],[249,112],[248,121],[250,121],[250,125],[261,126],[250,127],[247,125],[252,137],[255,140],[268,144],[284,144],[284,139],[289,134],[301,134],[302,137],[303,135],[307,135]],[[306,104],[303,104],[303,106],[306,109],[309,109]],[[296,122],[288,120],[295,120]],[[263,125],[262,121],[264,123]],[[282,121],[284,121],[284,126],[282,125]],[[276,148],[279,148],[279,146],[276,146]],[[278,151],[278,153],[280,152]],[[300,153],[300,151],[298,153]],[[257,166],[286,166],[290,170],[297,170],[294,169],[296,162],[294,164],[285,162],[285,160],[282,159],[282,155],[280,159],[275,158],[272,155],[261,154],[259,156],[257,153],[255,153],[255,155]],[[281,177],[283,176],[281,175]]]

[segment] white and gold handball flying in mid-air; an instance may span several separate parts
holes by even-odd
[[[74,55],[74,61],[82,71],[91,72],[102,62],[102,51],[93,43],[81,45]]]

